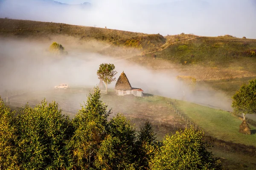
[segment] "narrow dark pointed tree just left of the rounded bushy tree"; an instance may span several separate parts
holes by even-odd
[[[150,122],[146,120],[138,132],[136,141],[137,169],[149,169],[148,163],[153,158],[155,148],[157,147],[155,134]]]

